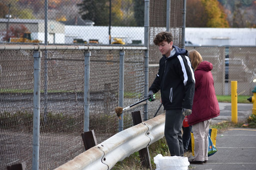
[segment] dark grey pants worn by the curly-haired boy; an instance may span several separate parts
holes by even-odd
[[[171,156],[183,156],[182,123],[184,115],[182,109],[169,109],[165,111],[164,135]]]

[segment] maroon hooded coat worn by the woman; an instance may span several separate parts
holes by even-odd
[[[188,115],[189,125],[194,125],[220,115],[211,70],[212,63],[202,61],[195,71],[195,95],[192,113]]]

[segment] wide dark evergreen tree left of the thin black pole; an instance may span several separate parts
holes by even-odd
[[[95,25],[109,25],[108,0],[83,0],[79,7],[79,14],[84,20],[92,20]]]

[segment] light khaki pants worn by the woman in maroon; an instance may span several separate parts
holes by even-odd
[[[208,160],[208,133],[211,119],[193,125],[195,161]]]

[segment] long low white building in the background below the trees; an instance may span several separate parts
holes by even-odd
[[[111,27],[111,37],[123,38],[126,44],[131,44],[132,40],[141,40],[144,44],[144,27]],[[75,38],[87,42],[97,39],[100,44],[109,44],[109,27],[65,25],[65,43],[72,44]],[[255,46],[256,28],[188,27],[185,28],[185,40],[201,46]]]

